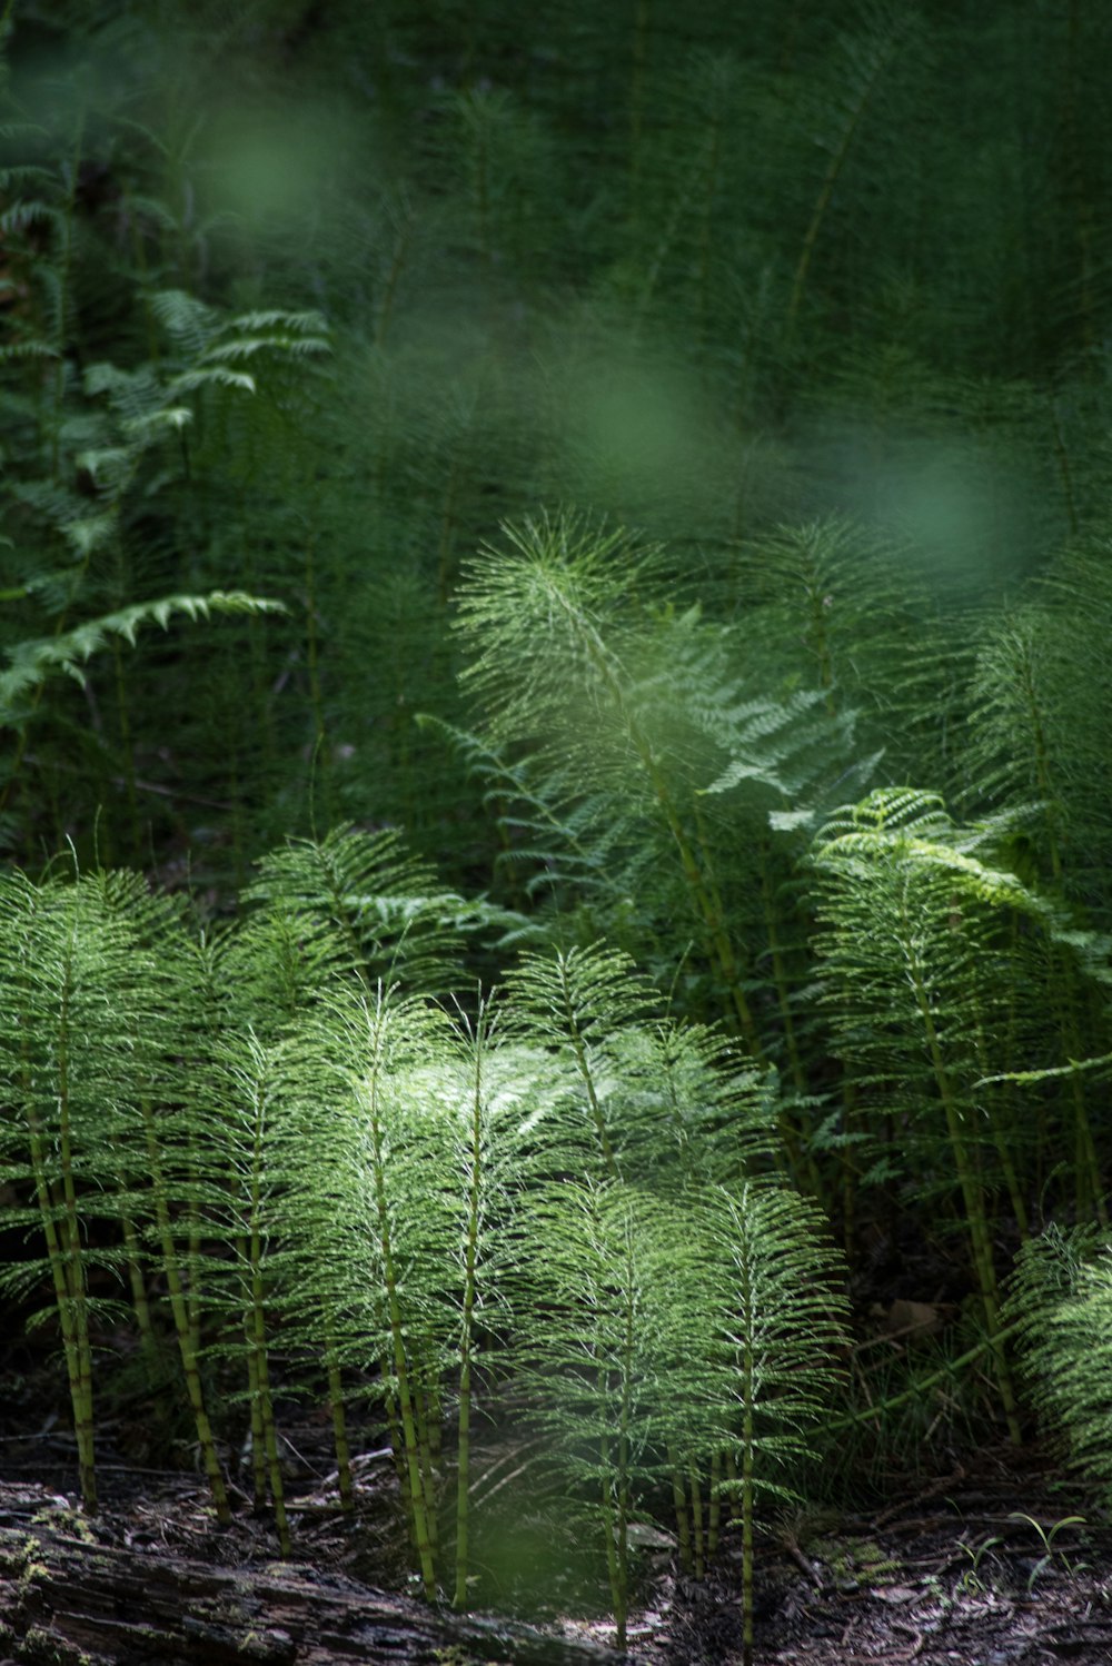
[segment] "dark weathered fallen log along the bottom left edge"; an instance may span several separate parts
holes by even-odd
[[[196,1503],[168,1503],[166,1511]],[[18,1663],[113,1666],[613,1666],[606,1646],[518,1621],[453,1614],[301,1563],[226,1563],[138,1544],[105,1509],[0,1483],[0,1651]],[[190,1534],[196,1534],[191,1521]],[[123,1541],[123,1543],[120,1543]],[[225,1549],[235,1549],[235,1536]]]

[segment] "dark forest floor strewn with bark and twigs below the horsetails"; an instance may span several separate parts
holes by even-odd
[[[618,1659],[601,1603],[566,1584],[556,1554],[548,1581],[534,1579],[528,1621],[513,1599],[513,1616],[459,1619],[406,1594],[390,1463],[371,1454],[360,1466],[351,1519],[335,1508],[325,1468],[313,1473],[311,1444],[300,1431],[306,1473],[291,1488],[295,1556],[281,1563],[273,1526],[246,1499],[218,1529],[196,1476],[127,1463],[112,1431],[95,1519],[77,1508],[63,1433],[8,1434],[0,1666]],[[1095,1513],[1067,1523],[1084,1509],[1037,1451],[984,1449],[931,1483],[894,1478],[891,1496],[859,1514],[782,1516],[762,1536],[757,1666],[1112,1663],[1112,1529]],[[729,1666],[741,1644],[729,1533],[699,1581],[676,1571],[666,1543],[643,1549],[631,1666]]]

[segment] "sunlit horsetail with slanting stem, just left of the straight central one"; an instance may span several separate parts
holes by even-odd
[[[323,1190],[336,1208],[348,1250],[311,1296],[330,1328],[365,1369],[381,1364],[380,1393],[395,1423],[421,1584],[436,1594],[436,1496],[429,1451],[443,1361],[444,1278],[451,1266],[448,1141],[405,1095],[406,1073],[443,1046],[444,1015],[419,996],[381,985],[375,993],[326,991],[290,1041],[285,1141],[296,1183],[283,1226],[313,1253]],[[328,1106],[328,1156],[321,1161],[320,1103]]]

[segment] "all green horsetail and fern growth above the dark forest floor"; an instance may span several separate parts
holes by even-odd
[[[1112,1488],[1112,15],[549,12],[3,15],[0,1291],[90,1509],[140,1383],[290,1551],[326,1408],[624,1643]]]

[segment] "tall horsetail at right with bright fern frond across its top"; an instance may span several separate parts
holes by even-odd
[[[924,1176],[949,1160],[961,1196],[985,1323],[999,1336],[992,1248],[992,1181],[982,1121],[1009,1161],[1015,1130],[982,1120],[989,1046],[1009,985],[1032,950],[1007,930],[1012,913],[1097,966],[1097,940],[1069,928],[1060,910],[1029,891],[984,851],[999,830],[959,830],[936,795],[879,791],[839,816],[816,841],[821,948],[839,1051],[889,1115],[907,1118]],[[1022,955],[1022,958],[1020,958]],[[944,1136],[932,1118],[942,1113]],[[1014,1178],[1010,1185],[1014,1185]],[[1099,1195],[1099,1178],[1092,1190]],[[1002,1346],[997,1381],[1009,1433],[1017,1403]]]

